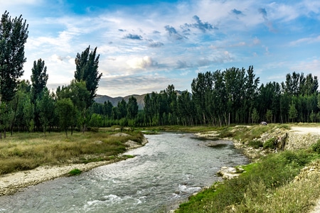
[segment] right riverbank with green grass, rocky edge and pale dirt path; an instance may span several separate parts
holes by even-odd
[[[245,166],[246,173],[239,178],[190,197],[176,212],[203,208],[208,212],[319,211],[320,153],[311,148],[320,138],[316,124],[235,126],[198,136],[232,140],[255,163]]]

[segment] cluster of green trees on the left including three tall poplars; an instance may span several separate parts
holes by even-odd
[[[90,46],[75,58],[75,79],[68,86],[48,91],[47,67],[41,59],[34,61],[31,83],[19,81],[23,75],[24,44],[28,25],[11,18],[6,11],[0,23],[0,132],[6,131],[87,128],[87,110],[95,102],[97,85],[102,77],[98,72],[99,55]],[[2,136],[0,135],[0,138]]]

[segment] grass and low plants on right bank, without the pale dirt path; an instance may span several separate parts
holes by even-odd
[[[217,138],[232,137],[267,154],[242,166],[245,173],[238,178],[215,182],[189,197],[176,212],[308,212],[320,197],[320,141],[309,148],[274,153],[276,145],[270,143],[274,138],[265,143],[259,138],[279,128],[290,126],[218,129]]]

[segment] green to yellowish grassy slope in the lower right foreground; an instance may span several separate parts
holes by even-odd
[[[295,184],[292,180],[316,158],[319,155],[309,151],[267,155],[257,163],[243,166],[246,172],[239,178],[215,183],[210,189],[191,196],[176,212],[303,212],[311,205],[312,194],[320,195],[319,179],[314,177]],[[303,185],[314,185],[314,188]],[[293,193],[297,188],[301,192]],[[299,202],[288,204],[284,197],[290,196],[295,197],[290,200]],[[267,203],[272,207],[267,207]],[[281,211],[277,210],[278,206],[282,206]]]

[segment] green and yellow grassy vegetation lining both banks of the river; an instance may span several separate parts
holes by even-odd
[[[231,180],[216,182],[208,189],[190,197],[176,212],[307,212],[320,197],[320,142],[307,149],[273,153],[274,138],[262,143],[262,133],[274,129],[290,129],[289,125],[241,126],[213,128],[211,126],[163,126],[147,129],[157,131],[189,131],[214,133],[215,138],[234,138],[246,146],[265,151],[254,163],[244,165],[245,173]],[[142,129],[140,129],[142,130]],[[145,130],[145,129],[144,129]],[[99,160],[122,160],[132,156],[118,155],[126,150],[128,140],[142,143],[140,131],[127,131],[117,137],[114,128],[97,132],[75,132],[65,138],[61,133],[15,133],[0,141],[0,174],[31,170],[39,165],[88,163]],[[122,156],[122,157],[120,157]],[[77,175],[81,170],[71,170]]]

